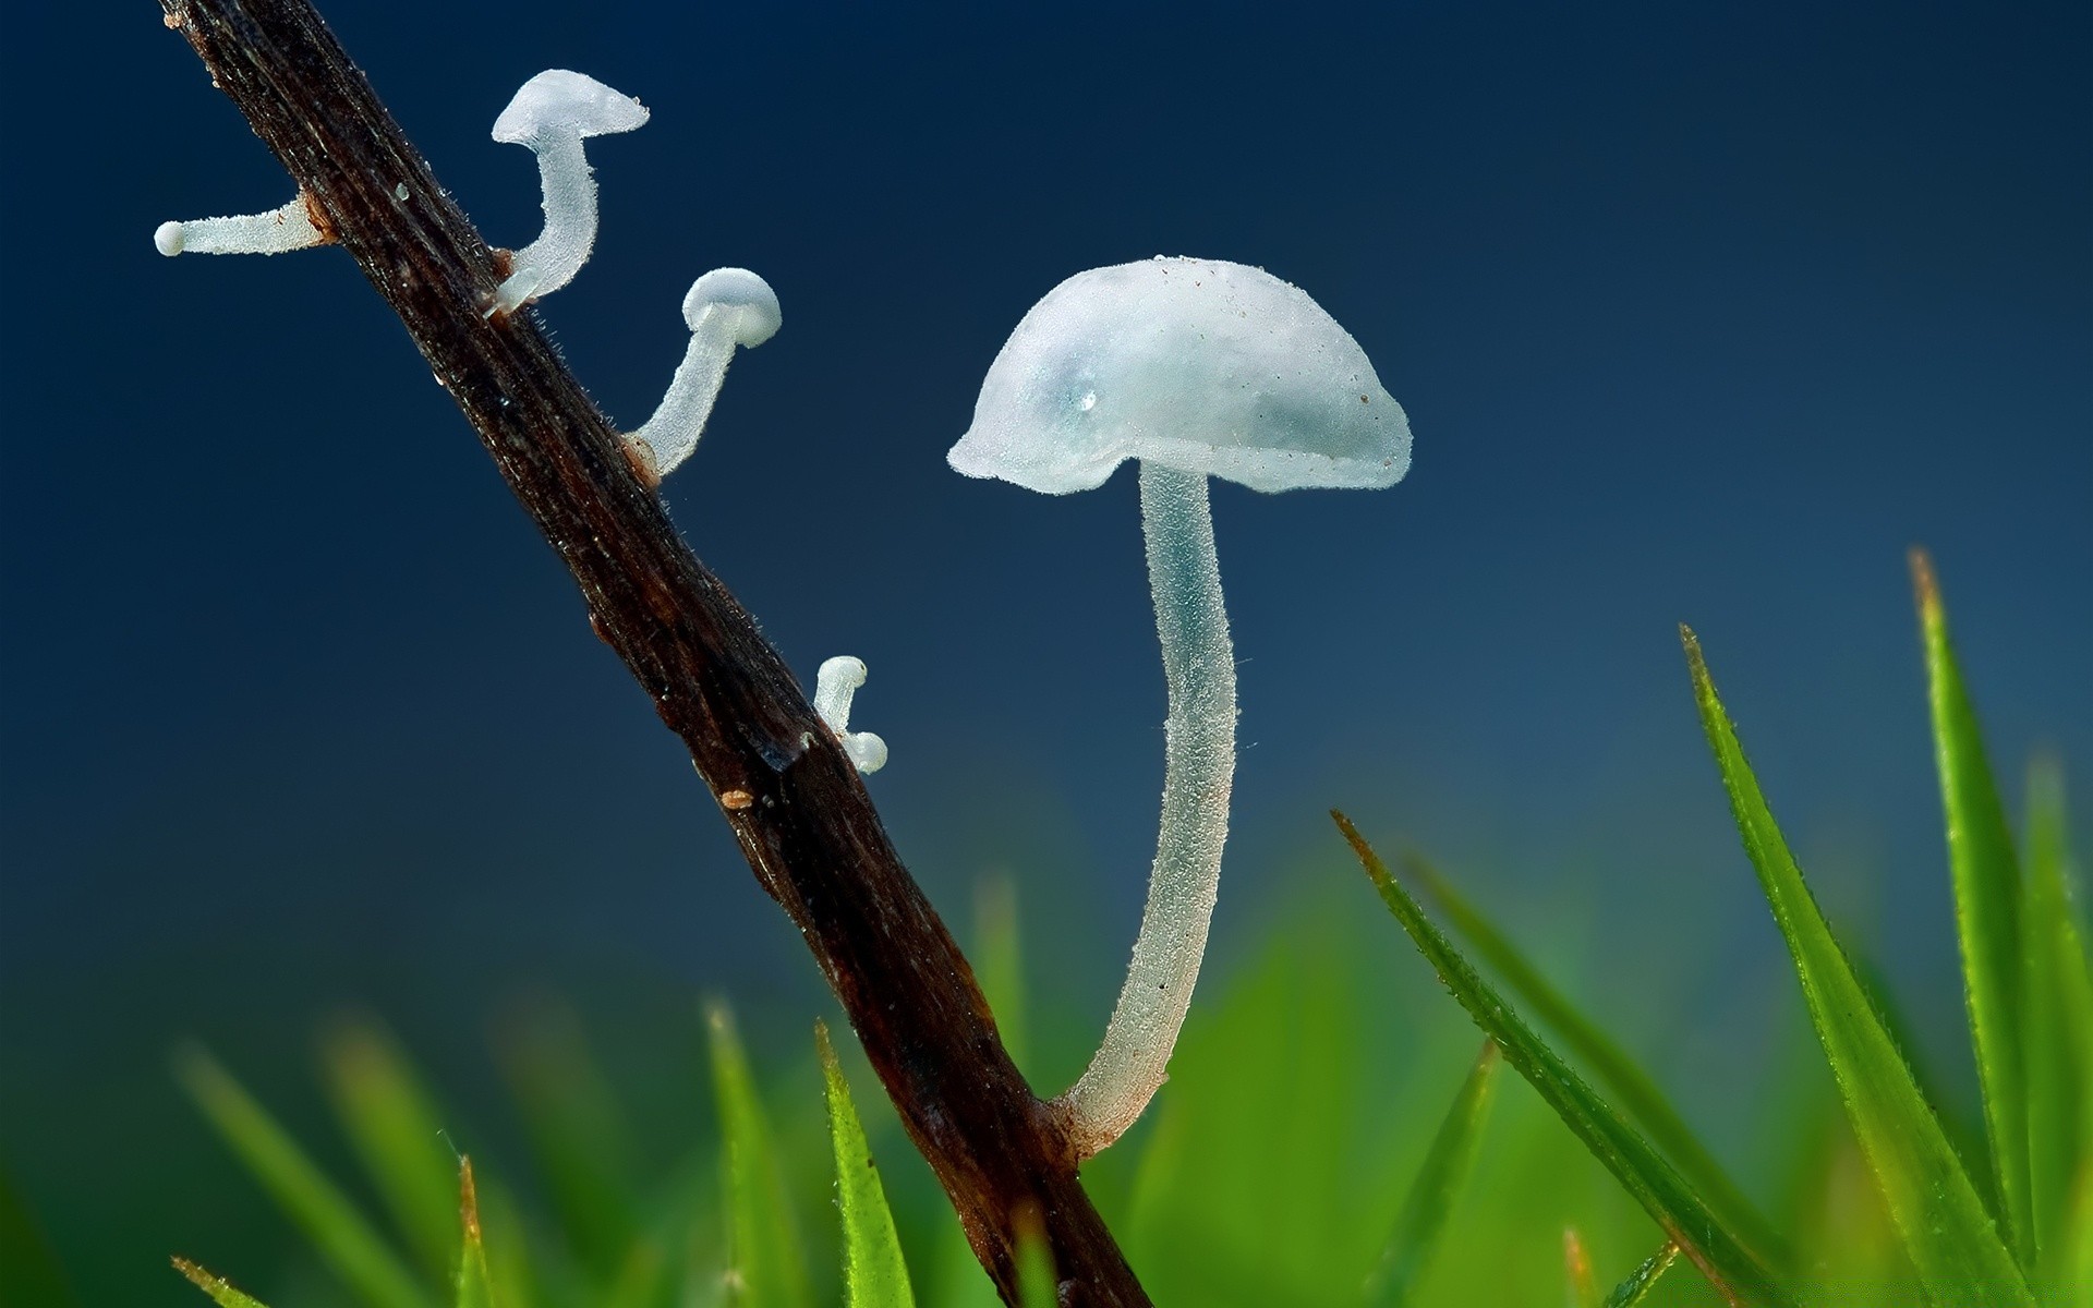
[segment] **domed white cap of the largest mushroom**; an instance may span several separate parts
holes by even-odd
[[[1078,272],[1023,316],[946,460],[1042,494],[1126,458],[1252,490],[1379,488],[1411,425],[1367,354],[1300,287],[1220,260]]]

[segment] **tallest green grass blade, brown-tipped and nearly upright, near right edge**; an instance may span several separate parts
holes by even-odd
[[[1970,1038],[1976,1046],[1978,1084],[1984,1090],[1984,1134],[1990,1141],[2007,1243],[2022,1266],[2030,1266],[2034,1224],[2028,1178],[2028,1082],[2020,1044],[2020,869],[1926,550],[1911,550],[1911,580],[1926,638],[1934,756],[1940,768],[1940,806],[1949,825],[1949,871],[1955,881],[1955,929],[1961,938]]]

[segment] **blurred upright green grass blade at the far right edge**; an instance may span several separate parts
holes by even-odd
[[[2072,1182],[2089,1162],[2093,994],[2066,877],[2064,776],[2028,770],[2028,866],[2022,881],[2022,1051],[2028,1055],[2028,1212],[2036,1266],[2064,1270]]]

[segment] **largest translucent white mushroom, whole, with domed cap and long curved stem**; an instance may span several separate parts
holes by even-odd
[[[946,458],[1044,494],[1090,490],[1141,460],[1170,686],[1164,806],[1126,986],[1090,1067],[1055,1101],[1078,1157],[1090,1157],[1164,1082],[1229,837],[1235,651],[1206,479],[1266,492],[1390,486],[1409,469],[1411,427],[1358,343],[1298,287],[1241,264],[1155,257],[1080,272],[1038,301]]]

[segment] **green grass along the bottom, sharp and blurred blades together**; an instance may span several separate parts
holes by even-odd
[[[2062,776],[2047,762],[2030,772],[2016,850],[1944,605],[1915,563],[1982,1143],[1959,1145],[1940,1120],[1940,1090],[1913,1069],[1888,994],[1819,910],[1689,634],[1716,772],[1819,1046],[1804,1055],[1796,1032],[1766,1059],[1762,1097],[1781,1105],[1771,1134],[1748,1151],[1710,1147],[1626,1042],[1450,875],[1406,852],[1398,877],[1340,816],[1430,971],[1356,900],[1329,896],[1279,921],[1203,998],[1149,1120],[1086,1170],[1155,1302],[2093,1308],[2093,977]],[[1344,883],[1335,858],[1323,866]],[[977,917],[980,975],[1013,1040],[1030,1042],[1009,887],[988,885]],[[1612,946],[1633,969],[1637,940]],[[1480,1057],[1427,975],[1482,1028]],[[860,1118],[854,1048],[831,1048],[820,1030],[818,1061],[758,1067],[724,1005],[703,1025],[716,1143],[670,1159],[640,1149],[571,1017],[546,1009],[511,1034],[504,1061],[540,1178],[530,1205],[502,1185],[521,1159],[475,1180],[440,1130],[437,1095],[368,1017],[333,1025],[322,1059],[354,1185],[209,1055],[186,1051],[178,1074],[339,1291],[299,1283],[276,1308],[312,1293],[360,1308],[996,1302],[942,1195],[881,1182],[875,1159],[904,1157],[906,1143],[883,1101]],[[0,1247],[57,1283],[4,1189]],[[1019,1262],[1026,1304],[1051,1304],[1044,1247],[1023,1241]],[[255,1304],[213,1272],[176,1268],[218,1304]]]

